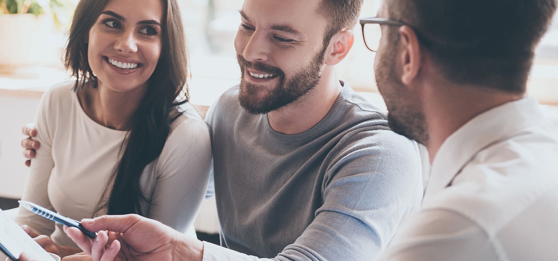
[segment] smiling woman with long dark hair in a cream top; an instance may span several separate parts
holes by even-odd
[[[69,35],[65,66],[76,81],[42,97],[23,200],[78,220],[140,214],[195,237],[211,149],[188,103],[176,0],[81,0]],[[40,216],[21,210],[17,221],[75,246]]]

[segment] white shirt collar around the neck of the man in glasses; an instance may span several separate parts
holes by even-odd
[[[425,203],[432,195],[446,188],[480,150],[544,118],[537,100],[524,98],[485,111],[461,126],[442,143],[432,161]]]

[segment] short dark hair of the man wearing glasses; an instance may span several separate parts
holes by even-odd
[[[525,92],[535,47],[556,0],[388,0],[411,24],[441,73],[461,84]]]

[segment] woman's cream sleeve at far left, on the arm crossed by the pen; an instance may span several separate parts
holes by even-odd
[[[56,110],[52,108],[55,104],[55,101],[53,101],[55,98],[52,96],[52,90],[46,91],[37,109],[35,119],[37,136],[34,139],[39,141],[41,145],[31,162],[22,200],[31,201],[44,208],[56,211],[50,203],[48,194],[50,174],[54,168],[52,137],[54,137],[54,127],[56,126],[55,115],[53,115],[56,113]],[[50,236],[54,232],[54,221],[34,214],[21,206],[16,222],[20,225],[28,225],[35,232],[42,235]]]

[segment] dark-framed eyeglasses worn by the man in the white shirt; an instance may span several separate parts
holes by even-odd
[[[360,19],[360,26],[362,26],[362,37],[364,38],[364,44],[366,48],[372,52],[378,51],[378,46],[380,45],[380,39],[382,38],[381,25],[387,26],[408,26],[413,28],[415,34],[419,41],[426,47],[432,46],[432,42],[426,37],[422,36],[414,27],[405,22],[396,21],[387,18],[378,17],[368,17]]]

